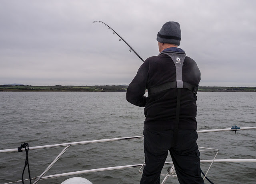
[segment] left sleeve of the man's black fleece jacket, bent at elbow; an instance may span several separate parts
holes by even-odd
[[[146,60],[127,88],[126,100],[135,106],[145,107],[146,105],[147,97],[144,94],[148,79],[148,68],[148,62]]]

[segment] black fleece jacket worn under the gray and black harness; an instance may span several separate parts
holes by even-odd
[[[182,67],[182,80],[194,86],[198,86],[200,82],[200,70],[196,62],[187,56]],[[177,88],[144,96],[146,88],[172,81],[176,81],[174,62],[168,55],[160,54],[146,59],[128,86],[127,101],[145,107],[144,129],[174,129]],[[181,89],[179,129],[197,129],[196,98],[196,95],[187,88]]]

